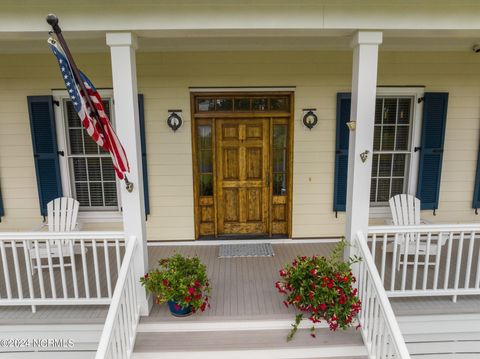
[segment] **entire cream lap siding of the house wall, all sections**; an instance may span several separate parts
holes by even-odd
[[[111,86],[107,54],[77,57],[98,87]],[[194,236],[189,87],[295,86],[293,236],[341,235],[344,214],[335,218],[332,211],[336,93],[349,91],[351,57],[350,51],[138,53],[151,206],[148,239]],[[480,133],[478,56],[381,52],[378,83],[450,93],[440,206],[435,217],[430,211],[423,217],[478,221],[471,208]],[[7,214],[0,230],[28,230],[41,220],[26,96],[46,95],[62,85],[50,55],[0,55],[0,180]],[[319,124],[309,131],[300,119],[302,109],[311,107],[317,108]],[[172,108],[182,109],[185,121],[176,133],[165,123]]]

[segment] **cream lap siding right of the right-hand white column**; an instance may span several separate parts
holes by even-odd
[[[480,67],[470,52],[391,53],[380,56],[380,85],[426,85],[428,92],[448,92],[447,127],[440,201],[432,222],[479,221],[472,210],[480,145]]]

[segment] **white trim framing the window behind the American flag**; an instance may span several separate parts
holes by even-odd
[[[112,106],[111,106],[111,114],[110,120],[112,124],[115,124],[115,111],[113,106],[113,90],[105,89],[105,90],[98,90],[100,96],[108,97],[112,99]],[[65,99],[69,99],[67,90],[54,90],[52,91],[53,100],[59,104],[58,106],[54,106],[55,112],[55,126],[57,129],[57,143],[58,143],[58,151],[64,151],[65,156],[59,156],[60,162],[60,175],[62,177],[62,189],[64,196],[72,197],[73,196],[73,188],[72,188],[72,174],[70,170],[70,166],[68,164],[68,156],[67,149],[68,149],[68,139],[66,135],[66,123],[65,123],[65,111],[63,106],[63,101]],[[120,183],[118,179],[116,179],[117,184],[117,193],[118,193],[118,210],[110,210],[110,211],[79,211],[78,217],[83,222],[121,222],[122,221],[122,202],[121,202],[121,195],[120,195]]]

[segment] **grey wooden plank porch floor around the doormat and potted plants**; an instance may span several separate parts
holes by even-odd
[[[207,265],[212,282],[212,307],[181,321],[290,320],[293,310],[283,306],[283,297],[274,287],[279,279],[278,270],[297,255],[328,255],[334,245],[274,244],[274,257],[258,258],[218,258],[217,245],[149,246],[149,263],[153,268],[158,259],[178,252],[198,255]],[[479,296],[459,297],[457,303],[451,297],[398,298],[391,303],[398,315],[480,312]],[[0,325],[103,323],[107,310],[106,306],[37,306],[37,313],[32,313],[29,306],[0,307]],[[150,316],[141,318],[141,322],[170,319],[166,306],[154,305]]]

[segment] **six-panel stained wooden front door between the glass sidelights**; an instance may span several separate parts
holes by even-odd
[[[219,119],[215,131],[218,234],[267,234],[269,119]]]

